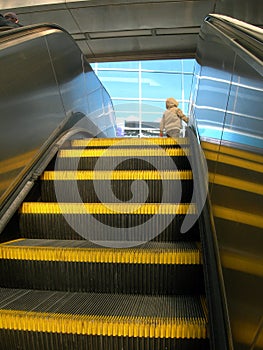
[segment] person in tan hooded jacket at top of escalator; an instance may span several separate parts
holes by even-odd
[[[179,102],[169,97],[165,102],[166,110],[160,122],[160,137],[163,137],[164,130],[168,137],[179,137],[182,129],[182,120],[188,123],[188,117],[178,108]]]

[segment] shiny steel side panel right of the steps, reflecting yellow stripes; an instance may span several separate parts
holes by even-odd
[[[238,350],[263,349],[263,30],[255,36],[206,22],[192,95]]]

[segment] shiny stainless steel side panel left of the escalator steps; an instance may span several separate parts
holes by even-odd
[[[0,35],[1,204],[66,122],[115,136],[111,100],[67,33],[45,28],[7,41],[6,35]]]

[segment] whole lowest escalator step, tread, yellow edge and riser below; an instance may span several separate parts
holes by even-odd
[[[129,349],[129,342],[135,345],[132,349],[149,349],[151,344],[150,349],[157,350],[164,339],[164,343],[181,349],[189,349],[189,344],[194,346],[192,349],[208,348],[203,297],[12,289],[0,292],[0,334],[4,347],[11,334],[16,339],[15,348],[25,349],[26,342],[34,343],[42,333],[38,349],[45,348],[47,342],[51,349],[57,349],[58,344],[63,349],[69,348],[69,344],[71,349],[76,348],[72,346],[76,341],[82,343],[82,337],[86,337],[84,348],[92,350],[109,349],[105,347],[107,342],[117,350]],[[52,339],[44,337],[50,333],[54,335]]]

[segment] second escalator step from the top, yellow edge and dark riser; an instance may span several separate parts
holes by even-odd
[[[182,148],[62,149],[57,170],[191,170]]]

